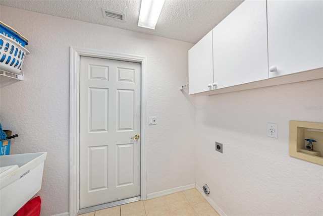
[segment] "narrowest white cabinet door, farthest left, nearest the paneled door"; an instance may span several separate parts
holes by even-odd
[[[211,90],[213,81],[212,31],[188,51],[189,94]]]

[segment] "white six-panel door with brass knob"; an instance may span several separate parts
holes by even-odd
[[[140,105],[140,63],[80,58],[80,209],[140,196]]]

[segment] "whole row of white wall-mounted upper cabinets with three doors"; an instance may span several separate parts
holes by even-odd
[[[321,79],[323,1],[246,0],[189,50],[188,61],[189,94]]]

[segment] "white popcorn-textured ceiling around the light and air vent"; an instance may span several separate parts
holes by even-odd
[[[155,30],[138,27],[140,0],[0,0],[1,5],[196,43],[243,0],[166,0]],[[126,14],[105,19],[101,8]]]

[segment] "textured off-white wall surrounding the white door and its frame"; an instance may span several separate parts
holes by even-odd
[[[29,39],[25,81],[1,79],[0,122],[19,134],[11,153],[47,151],[42,215],[67,212],[70,46],[147,57],[147,193],[195,183],[194,107],[178,90],[188,82],[187,42],[1,6],[1,20]],[[187,90],[187,89],[186,89]]]

